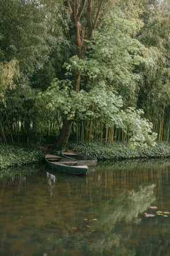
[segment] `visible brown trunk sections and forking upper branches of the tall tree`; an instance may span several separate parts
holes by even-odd
[[[77,56],[78,58],[84,58],[86,49],[87,49],[86,40],[93,39],[93,33],[95,31],[97,21],[99,20],[101,7],[103,5],[103,0],[100,0],[99,2],[92,1],[92,0],[81,0],[81,1],[66,0],[65,4],[69,9],[70,19],[75,29]],[[95,15],[93,16],[92,16],[92,9],[97,10]],[[84,16],[84,19],[82,19],[82,22],[85,23],[85,25],[83,25],[81,23],[81,18],[85,10],[86,10],[86,15]],[[80,79],[81,79],[80,72],[78,70],[75,70],[74,78],[73,78],[73,88],[75,92],[80,91]],[[72,125],[73,125],[73,121],[69,119],[68,116],[66,115],[63,121],[63,127],[59,135],[59,139],[54,144],[54,147],[60,146],[67,142],[70,136]]]

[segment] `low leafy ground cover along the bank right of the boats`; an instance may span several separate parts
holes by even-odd
[[[170,157],[170,144],[157,143],[156,146],[130,148],[129,143],[112,142],[90,142],[69,143],[67,148],[79,153],[91,155],[101,160],[131,159],[131,158],[168,158]]]

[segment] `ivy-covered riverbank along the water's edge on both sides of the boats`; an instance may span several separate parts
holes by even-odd
[[[143,149],[139,147],[131,149],[128,143],[120,142],[69,143],[66,147],[82,154],[91,155],[99,161],[170,158],[170,143],[163,142],[157,143],[155,147],[148,146]],[[54,150],[53,153],[59,155],[61,151]],[[44,154],[45,151],[36,146],[0,145],[0,169],[42,162]]]

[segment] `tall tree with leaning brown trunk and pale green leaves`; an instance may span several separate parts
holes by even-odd
[[[97,5],[96,16],[93,17],[92,9],[95,2],[94,5],[91,5],[91,1],[82,3],[78,10],[84,22],[83,27],[79,20],[76,21],[77,16],[73,16],[72,8],[75,8],[75,5],[71,6],[71,3],[67,2],[72,23],[75,24],[77,55],[70,58],[65,67],[68,71],[67,76],[74,74],[74,79],[56,79],[46,92],[40,94],[40,98],[47,102],[50,110],[61,111],[64,117],[61,134],[54,146],[67,142],[73,121],[84,118],[98,118],[103,120],[107,127],[116,125],[124,131],[128,129],[132,142],[152,143],[155,138],[152,134],[152,125],[141,118],[141,111],[131,108],[123,112],[122,98],[115,91],[120,84],[130,86],[138,80],[139,75],[135,73],[135,66],[149,62],[141,56],[142,44],[133,38],[142,23],[134,18],[124,18],[119,9],[116,9],[114,14],[110,13],[109,18],[103,15],[100,31],[95,32],[94,24],[99,20],[101,5]],[[85,8],[87,13],[89,11],[89,20],[93,22],[89,22],[88,15],[83,16]],[[78,13],[77,11],[77,15]]]

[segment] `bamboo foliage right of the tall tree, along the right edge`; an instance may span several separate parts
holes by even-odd
[[[138,106],[154,124],[158,140],[169,140],[169,1],[143,2],[145,26],[137,39],[145,44],[144,53],[152,58],[150,68],[141,66]]]

